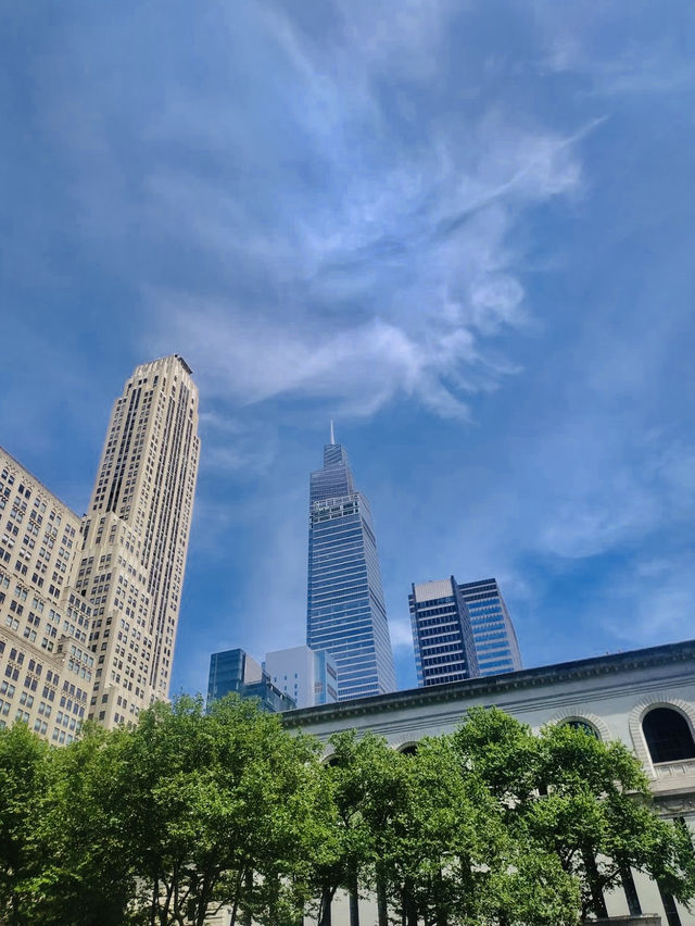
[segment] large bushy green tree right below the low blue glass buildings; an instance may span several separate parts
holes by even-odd
[[[316,744],[233,697],[146,711],[124,750],[126,827],[151,926],[296,918],[306,900],[318,803]],[[281,911],[281,914],[279,913]]]

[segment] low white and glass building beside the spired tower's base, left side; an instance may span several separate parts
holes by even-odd
[[[338,671],[324,650],[292,647],[267,653],[263,667],[273,684],[288,693],[298,708],[331,704],[338,700]]]

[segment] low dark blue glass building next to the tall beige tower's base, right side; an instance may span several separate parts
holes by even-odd
[[[295,704],[290,694],[270,681],[268,673],[243,650],[225,650],[210,658],[207,706],[225,694],[255,700],[263,711],[291,711]]]

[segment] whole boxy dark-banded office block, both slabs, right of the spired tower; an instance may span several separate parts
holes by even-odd
[[[419,686],[521,668],[509,613],[495,579],[414,585],[408,596]]]

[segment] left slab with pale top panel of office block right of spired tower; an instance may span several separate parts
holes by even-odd
[[[408,605],[417,684],[426,687],[477,678],[473,631],[454,576],[413,585]]]

